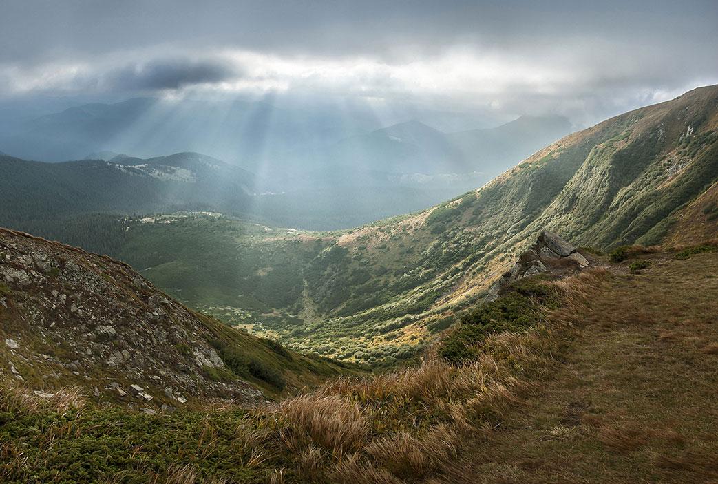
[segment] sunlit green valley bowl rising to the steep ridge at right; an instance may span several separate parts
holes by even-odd
[[[298,349],[391,363],[480,297],[543,228],[592,246],[661,241],[718,176],[717,128],[718,87],[700,88],[569,135],[423,213],[252,243],[215,234],[204,258],[159,227],[123,258],[144,264],[138,253],[157,238],[167,265],[146,275],[168,288],[199,281],[183,289],[187,302]]]

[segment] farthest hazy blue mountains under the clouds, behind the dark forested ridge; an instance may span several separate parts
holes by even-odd
[[[522,117],[498,129],[447,136],[419,121],[383,127],[366,108],[134,98],[75,106],[13,128],[0,131],[0,146],[24,159],[62,162],[106,151],[139,157],[201,152],[276,176],[292,165],[311,172],[327,162],[389,172],[471,172],[497,157],[516,163],[567,134],[571,125],[557,116]]]

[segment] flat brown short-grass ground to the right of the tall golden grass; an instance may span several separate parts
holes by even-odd
[[[647,259],[571,316],[555,379],[437,482],[718,483],[718,254]]]

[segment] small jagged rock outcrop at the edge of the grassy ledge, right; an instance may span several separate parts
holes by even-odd
[[[542,231],[536,243],[521,254],[516,264],[492,284],[486,300],[493,301],[506,284],[518,279],[536,276],[556,267],[565,269],[569,266],[570,269],[575,270],[589,265],[588,259],[579,253],[577,248],[553,232]]]

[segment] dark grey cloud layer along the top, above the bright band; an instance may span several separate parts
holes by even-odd
[[[154,45],[408,55],[457,43],[540,49],[579,36],[671,47],[715,39],[717,11],[714,0],[9,0],[0,62]]]

